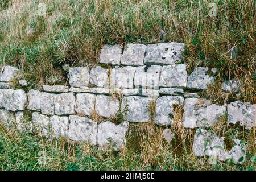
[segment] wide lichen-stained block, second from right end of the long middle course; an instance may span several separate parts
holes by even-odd
[[[212,104],[210,100],[187,98],[184,104],[183,126],[189,128],[212,126],[225,111],[225,106]]]

